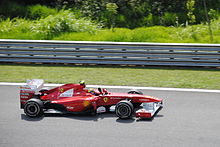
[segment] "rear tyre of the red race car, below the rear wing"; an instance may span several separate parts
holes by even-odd
[[[32,98],[24,105],[24,113],[29,117],[40,117],[43,114],[43,102]]]

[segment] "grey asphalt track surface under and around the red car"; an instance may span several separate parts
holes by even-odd
[[[19,86],[0,86],[0,147],[220,146],[220,93],[142,91],[164,98],[153,120],[114,114],[28,118],[19,109]]]

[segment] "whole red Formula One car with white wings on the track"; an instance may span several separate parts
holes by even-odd
[[[50,110],[62,113],[115,112],[119,118],[152,118],[162,107],[162,99],[131,90],[111,93],[106,89],[86,89],[85,83],[65,84],[52,89],[43,88],[41,79],[27,80],[20,87],[21,108],[29,117],[38,117]]]

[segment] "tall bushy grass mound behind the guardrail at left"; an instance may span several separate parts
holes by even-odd
[[[98,24],[85,18],[76,18],[70,10],[60,10],[54,15],[37,20],[13,18],[0,20],[0,38],[3,39],[53,39],[64,32],[94,33]]]

